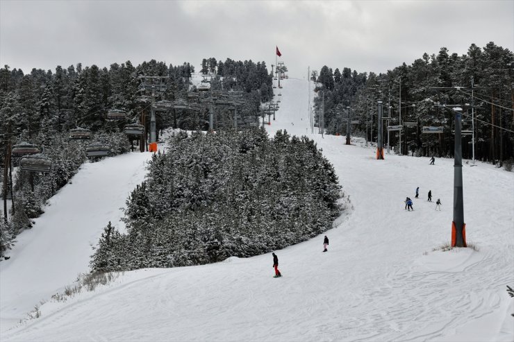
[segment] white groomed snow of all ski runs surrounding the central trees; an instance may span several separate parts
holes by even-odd
[[[514,173],[465,164],[467,242],[479,251],[433,251],[450,239],[453,160],[378,161],[362,139],[346,146],[345,137],[311,134],[307,81],[281,84],[270,135],[315,139],[349,196],[349,210],[326,232],[328,253],[322,234],[275,251],[281,278],[272,277],[271,254],[231,257],[126,272],[56,302],[51,295],[88,270],[107,222],[122,227],[119,208],[144,178],[149,153],[85,164],[0,262],[0,340],[514,341],[506,293],[514,286]],[[406,196],[413,212],[404,210]],[[40,318],[17,323],[40,300]]]

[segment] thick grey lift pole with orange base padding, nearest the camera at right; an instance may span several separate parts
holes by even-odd
[[[451,246],[467,247],[466,225],[464,223],[464,200],[462,178],[461,124],[462,108],[454,108],[455,149],[454,149],[454,221],[451,223]]]

